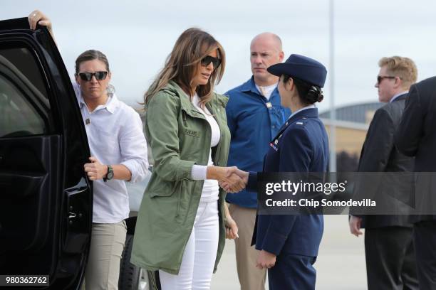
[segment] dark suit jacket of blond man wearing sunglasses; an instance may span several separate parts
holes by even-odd
[[[407,93],[398,96],[388,104],[378,109],[370,124],[365,142],[360,153],[358,172],[412,172],[414,160],[401,154],[394,146],[394,133],[400,124]],[[386,176],[380,174],[378,184],[371,184],[371,191],[378,196],[378,207],[392,207],[401,213],[408,213],[408,205],[396,200],[398,192],[403,188],[410,188],[408,180],[387,181]],[[374,178],[371,178],[374,181]],[[410,181],[409,181],[410,182]],[[360,188],[355,188],[355,192]],[[410,192],[406,193],[410,195]],[[395,204],[395,205],[394,205]],[[362,227],[375,228],[386,226],[408,226],[408,215],[360,215],[363,218]]]

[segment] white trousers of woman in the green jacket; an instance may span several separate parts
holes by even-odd
[[[200,201],[178,275],[159,271],[162,290],[210,289],[219,237],[218,202]]]

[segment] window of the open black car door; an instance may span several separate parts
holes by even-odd
[[[42,84],[27,48],[0,50],[0,138],[50,131],[50,104]]]

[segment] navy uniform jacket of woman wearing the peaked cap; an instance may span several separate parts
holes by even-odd
[[[284,129],[286,127],[286,129]],[[284,124],[278,143],[269,149],[264,172],[325,172],[328,137],[318,109],[297,112]],[[256,188],[256,173],[247,187]],[[277,256],[280,253],[316,257],[323,235],[322,215],[257,215],[253,243]]]

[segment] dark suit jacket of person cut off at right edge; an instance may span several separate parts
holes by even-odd
[[[415,172],[436,171],[436,77],[417,82],[410,87],[400,127],[395,133],[395,145],[408,156],[415,156]],[[417,176],[415,194],[417,208],[434,203],[435,178]],[[434,210],[434,204],[433,204]],[[433,212],[434,213],[434,212]],[[436,215],[416,216],[413,221],[436,220]]]

